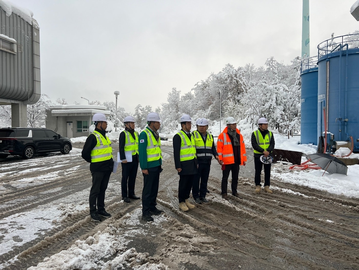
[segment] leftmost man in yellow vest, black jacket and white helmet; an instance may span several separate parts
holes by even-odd
[[[92,121],[95,130],[87,137],[81,156],[90,163],[92,175],[90,216],[93,221],[101,221],[101,217],[111,217],[105,210],[105,191],[113,170],[112,147],[111,141],[106,137],[106,116],[103,113],[95,113]]]

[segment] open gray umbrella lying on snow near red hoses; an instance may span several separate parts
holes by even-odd
[[[308,156],[311,159],[311,162],[316,163],[328,173],[347,174],[348,167],[335,156],[326,153],[311,154]]]

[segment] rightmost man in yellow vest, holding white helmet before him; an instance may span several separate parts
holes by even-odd
[[[272,194],[273,191],[269,189],[271,163],[264,164],[261,161],[262,156],[269,157],[271,155],[275,146],[273,133],[268,130],[268,121],[265,117],[258,120],[258,130],[253,131],[251,142],[254,152],[254,168],[256,171],[254,177],[256,184],[255,192],[261,192],[261,172],[264,166],[264,192]]]

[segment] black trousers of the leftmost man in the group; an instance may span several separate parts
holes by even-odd
[[[89,203],[90,214],[105,210],[105,191],[112,171],[92,171],[92,187]],[[97,202],[97,203],[96,203]],[[97,205],[97,210],[96,210]]]

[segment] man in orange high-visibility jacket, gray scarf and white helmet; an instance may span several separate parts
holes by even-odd
[[[229,172],[232,172],[232,195],[241,198],[237,192],[239,165],[246,165],[246,147],[243,136],[237,129],[237,121],[233,117],[226,119],[227,127],[218,136],[217,152],[222,165],[222,198],[228,200],[227,185]]]

